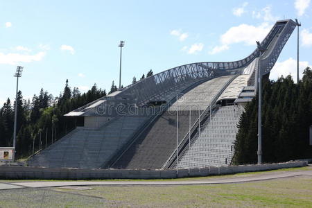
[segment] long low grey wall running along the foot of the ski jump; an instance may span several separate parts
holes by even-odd
[[[92,179],[166,179],[177,177],[198,177],[225,175],[254,171],[269,171],[280,168],[306,166],[307,161],[244,166],[209,166],[179,170],[119,170],[119,169],[76,169],[76,168],[35,168],[23,166],[0,166],[0,179],[40,180],[92,180]]]

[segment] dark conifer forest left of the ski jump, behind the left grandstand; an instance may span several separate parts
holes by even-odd
[[[152,75],[153,71],[150,70],[146,77]],[[118,89],[113,81],[109,94],[116,90]],[[76,125],[82,125],[83,120],[63,115],[106,94],[105,89],[98,88],[96,84],[88,92],[81,93],[78,87],[71,89],[68,80],[60,95],[56,97],[42,88],[38,95],[35,94],[31,100],[26,100],[19,91],[17,104],[8,98],[0,108],[0,147],[13,145],[15,105],[17,105],[16,158],[19,159],[33,155],[37,150],[66,135]]]

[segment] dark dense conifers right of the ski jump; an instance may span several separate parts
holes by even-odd
[[[263,162],[286,162],[312,157],[312,70],[304,70],[300,83],[289,75],[277,81],[263,79]],[[236,135],[234,164],[257,163],[258,96],[241,114]]]

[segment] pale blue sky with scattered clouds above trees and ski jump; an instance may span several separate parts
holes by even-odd
[[[24,98],[41,87],[58,96],[66,79],[81,92],[109,91],[181,64],[231,61],[255,49],[276,20],[298,18],[300,68],[312,64],[312,7],[296,1],[6,1],[0,0],[0,106],[14,98],[16,66],[24,66]],[[294,31],[270,78],[295,72]]]

